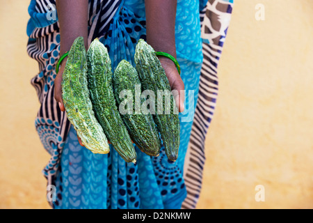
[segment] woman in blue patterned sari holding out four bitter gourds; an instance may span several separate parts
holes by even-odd
[[[205,12],[206,3],[204,0],[31,1],[28,52],[40,68],[31,80],[41,104],[35,127],[51,155],[43,173],[48,185],[56,188],[56,197],[50,202],[53,208],[182,207],[187,194],[183,170],[193,124],[190,116],[193,117],[198,98],[202,65],[200,11]],[[77,36],[84,37],[86,49],[94,38],[99,38],[109,49],[113,70],[122,59],[134,65],[134,49],[139,38],[147,40],[156,51],[177,58],[181,76],[172,61],[159,57],[172,89],[187,93],[185,104],[184,95],[177,98],[179,112],[184,109],[187,112],[179,114],[181,142],[176,162],[168,161],[163,146],[159,157],[150,157],[136,148],[137,164],[132,164],[122,160],[113,148],[107,155],[97,155],[80,145],[61,98],[66,59],[58,74],[55,70],[57,60],[70,49]]]

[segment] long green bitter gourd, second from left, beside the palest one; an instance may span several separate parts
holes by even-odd
[[[95,116],[113,148],[126,162],[136,162],[136,151],[124,125],[113,93],[108,50],[96,38],[87,52],[88,89]]]

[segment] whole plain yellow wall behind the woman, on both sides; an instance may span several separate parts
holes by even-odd
[[[255,20],[257,3],[265,21]],[[28,4],[0,0],[0,208],[49,208]],[[312,21],[312,0],[235,0],[198,208],[313,208]]]

